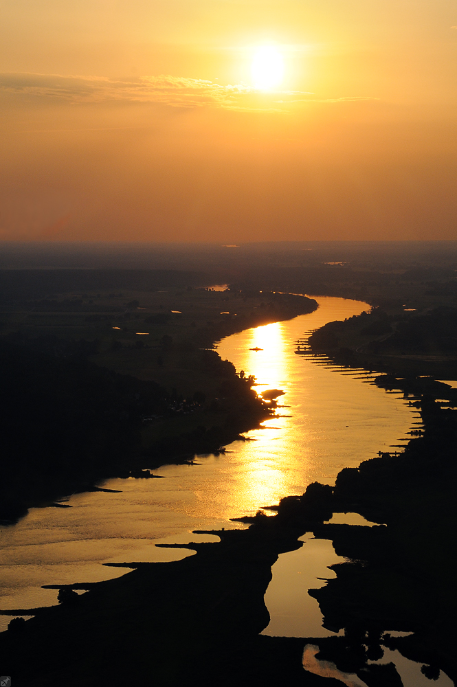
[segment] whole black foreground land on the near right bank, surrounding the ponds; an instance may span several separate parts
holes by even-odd
[[[368,687],[401,686],[394,664],[373,664],[398,649],[436,679],[457,679],[456,418],[434,398],[456,403],[457,391],[430,379],[405,389],[383,375],[378,383],[414,394],[424,427],[399,456],[381,455],[344,469],[335,488],[312,484],[286,497],[276,515],[258,513],[247,530],[214,532],[220,543],[195,543],[196,556],[176,563],[115,564],[132,568],[101,583],[59,587],[58,607],[14,609],[0,635],[5,673],[19,685],[342,684],[302,668],[306,644],[317,658]],[[360,513],[379,526],[326,524],[332,513]],[[344,636],[325,639],[259,635],[269,622],[263,595],[278,554],[295,550],[305,532],[331,539],[347,563],[311,591],[324,625]],[[73,590],[89,590],[78,596]],[[412,633],[392,637],[389,631]],[[152,682],[151,682],[152,681]]]

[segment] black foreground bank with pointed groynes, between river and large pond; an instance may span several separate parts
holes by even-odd
[[[326,515],[324,509],[315,517]],[[300,546],[299,532],[258,524],[212,532],[221,543],[186,545],[197,556],[118,564],[134,570],[106,583],[68,585],[60,605],[33,609],[27,614],[34,618],[14,621],[0,635],[5,671],[18,685],[109,685],[127,666],[134,684],[152,678],[161,686],[260,687],[272,675],[287,684],[339,684],[304,673],[297,642],[258,637],[269,621],[263,594],[271,565]],[[89,591],[77,596],[71,589]]]

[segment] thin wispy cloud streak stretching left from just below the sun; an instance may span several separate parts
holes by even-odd
[[[0,93],[19,100],[47,102],[104,103],[144,102],[192,109],[218,107],[246,111],[285,111],[278,104],[294,102],[340,102],[372,100],[365,96],[331,99],[300,98],[304,91],[265,93],[245,84],[219,85],[203,79],[170,75],[110,79],[103,76],[61,76],[58,74],[0,74]],[[278,95],[281,100],[276,100]],[[299,97],[297,97],[299,96]]]

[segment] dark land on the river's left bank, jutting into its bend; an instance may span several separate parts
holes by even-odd
[[[166,462],[217,453],[258,427],[276,404],[207,348],[316,307],[300,296],[172,288],[172,273],[157,291],[164,273],[153,271],[148,291],[31,297],[40,284],[133,284],[130,271],[100,272],[3,274],[14,285],[3,292],[1,313],[3,522],[31,506],[58,506],[107,477],[146,477]],[[175,275],[178,284],[187,278]],[[144,282],[140,273],[136,285]]]

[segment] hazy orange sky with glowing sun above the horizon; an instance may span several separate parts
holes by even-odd
[[[0,10],[0,238],[457,239],[455,0]]]

